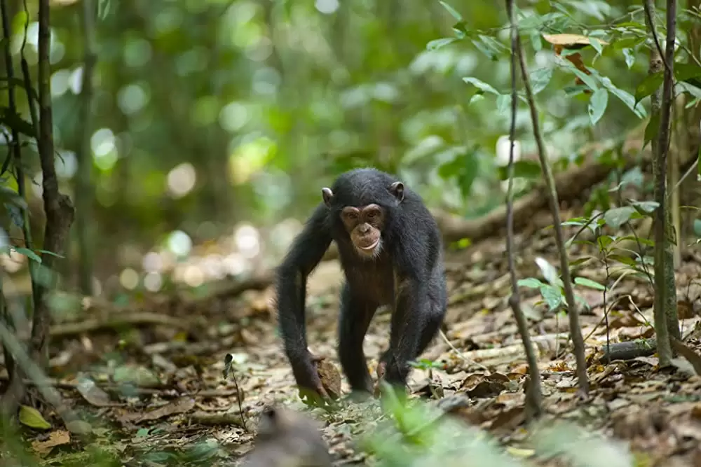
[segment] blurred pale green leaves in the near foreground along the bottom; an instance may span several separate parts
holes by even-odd
[[[387,418],[363,438],[376,465],[519,467],[524,459],[559,459],[566,465],[632,467],[627,446],[564,421],[541,421],[528,439],[504,449],[491,435],[430,403],[384,391]],[[444,401],[447,402],[447,401]],[[449,403],[447,403],[449,405]],[[529,463],[528,465],[531,465]]]

